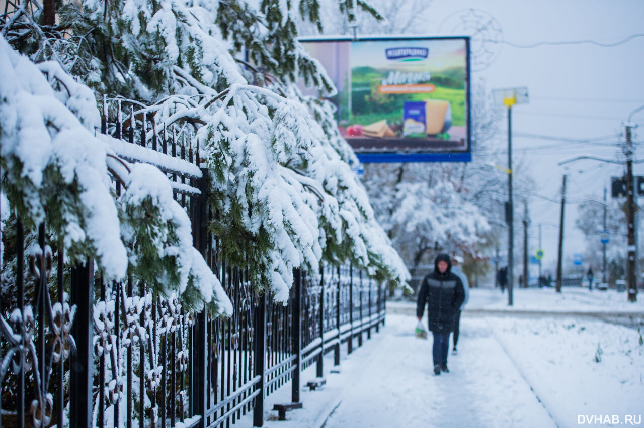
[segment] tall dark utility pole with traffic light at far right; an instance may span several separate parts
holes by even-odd
[[[627,250],[626,260],[626,283],[629,290],[628,299],[631,302],[637,301],[638,296],[638,279],[636,274],[636,260],[638,256],[637,245],[635,245],[635,198],[633,185],[633,143],[630,139],[630,129],[632,124],[626,124],[626,223],[627,231]]]

